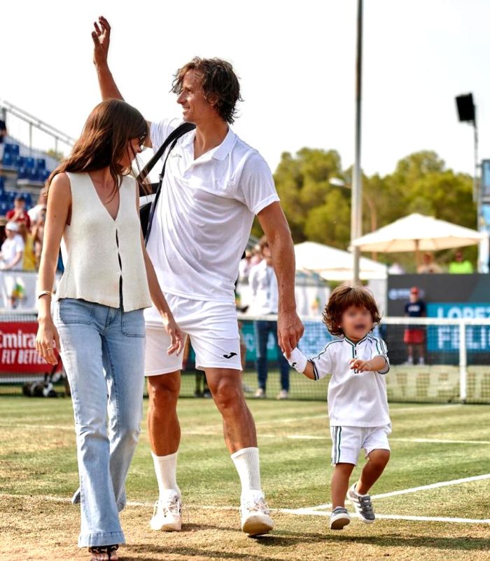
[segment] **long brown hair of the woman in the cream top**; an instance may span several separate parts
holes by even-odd
[[[88,173],[109,167],[115,196],[128,170],[118,163],[133,138],[144,142],[148,128],[141,113],[122,100],[99,103],[88,117],[71,154],[58,165],[46,181],[45,194],[58,173]]]

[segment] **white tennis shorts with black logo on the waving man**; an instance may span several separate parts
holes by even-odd
[[[241,370],[240,337],[234,302],[204,302],[165,295],[176,322],[190,337],[196,368]],[[153,316],[153,314],[152,314]],[[145,375],[168,374],[182,368],[183,353],[167,355],[170,337],[162,324],[146,323]]]

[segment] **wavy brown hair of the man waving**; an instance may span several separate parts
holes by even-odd
[[[219,116],[227,123],[234,123],[237,116],[237,102],[243,101],[240,96],[240,84],[232,65],[221,58],[194,57],[182,68],[177,70],[172,82],[172,92],[182,92],[184,76],[194,70],[201,79],[204,97],[214,102]]]

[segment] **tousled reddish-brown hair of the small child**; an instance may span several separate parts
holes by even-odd
[[[369,290],[362,286],[337,286],[332,291],[328,303],[323,310],[323,323],[332,335],[343,335],[340,327],[342,313],[350,306],[365,308],[371,313],[373,327],[381,321],[376,300]]]

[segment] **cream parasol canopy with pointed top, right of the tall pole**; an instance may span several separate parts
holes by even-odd
[[[475,245],[485,238],[479,231],[414,213],[357,238],[352,245],[383,253],[437,251]]]

